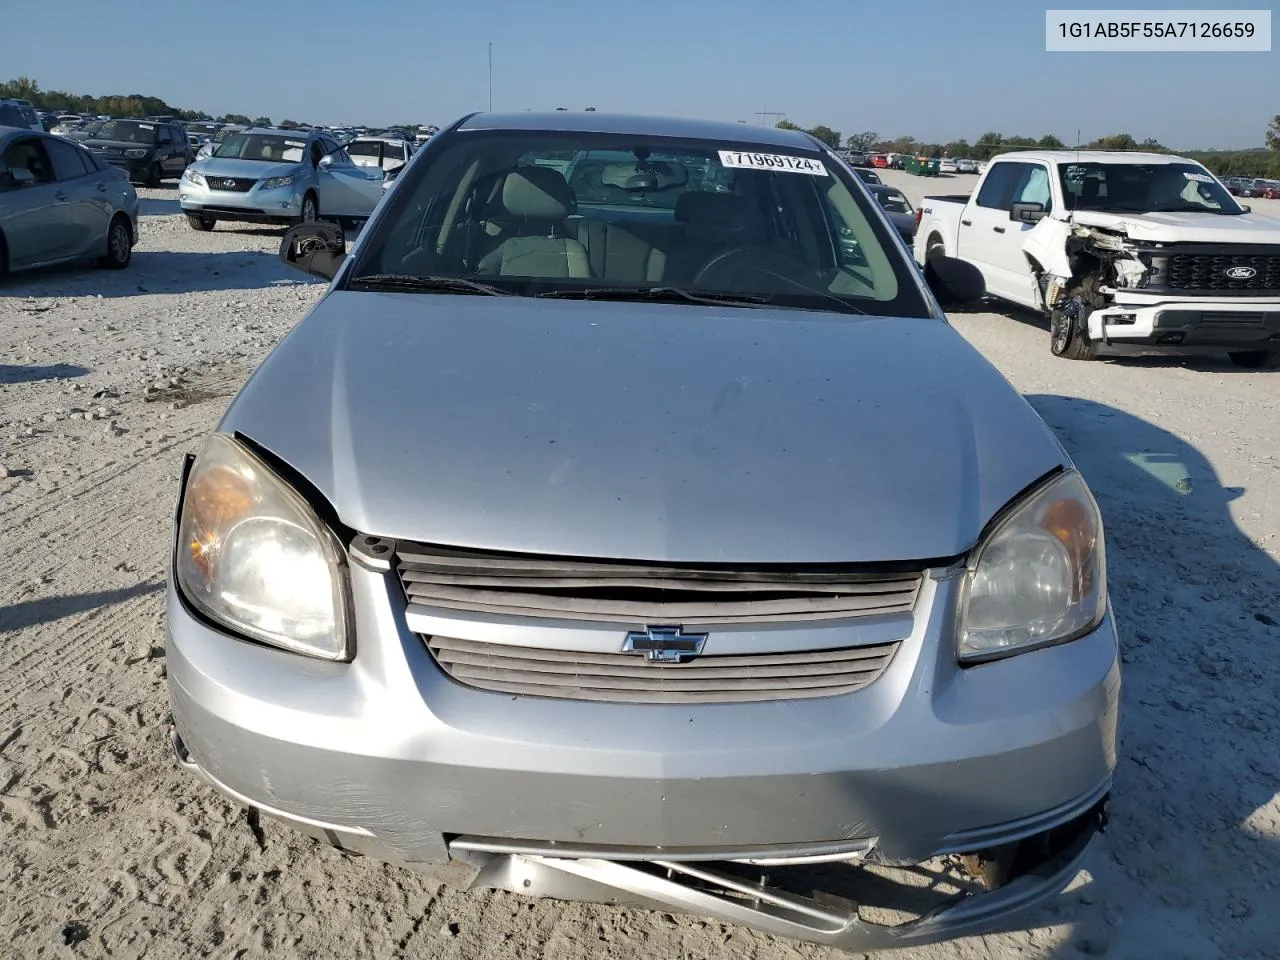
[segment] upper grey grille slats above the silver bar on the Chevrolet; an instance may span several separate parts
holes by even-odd
[[[667,566],[397,545],[411,604],[644,627],[787,623],[909,613],[919,571]]]

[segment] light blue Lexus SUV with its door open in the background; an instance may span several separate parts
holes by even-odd
[[[366,219],[383,196],[383,172],[357,166],[315,131],[232,133],[183,174],[178,201],[197,230],[219,220],[297,224]]]

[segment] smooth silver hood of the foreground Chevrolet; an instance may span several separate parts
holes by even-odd
[[[952,557],[1066,454],[954,329],[333,292],[228,410],[348,526],[666,562]]]

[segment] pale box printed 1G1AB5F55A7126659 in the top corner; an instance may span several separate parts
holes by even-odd
[[[1044,49],[1270,52],[1271,10],[1046,10]]]

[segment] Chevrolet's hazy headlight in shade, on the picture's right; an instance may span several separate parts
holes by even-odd
[[[1102,515],[1068,471],[1032,492],[974,553],[959,608],[959,657],[977,662],[1065,643],[1106,613]]]

